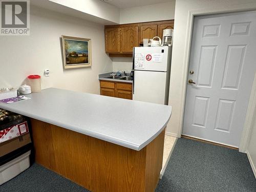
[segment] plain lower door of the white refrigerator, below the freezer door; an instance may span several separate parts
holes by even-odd
[[[165,104],[165,86],[166,72],[135,71],[133,99]]]

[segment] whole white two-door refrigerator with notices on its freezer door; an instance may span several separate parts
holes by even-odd
[[[133,99],[168,104],[172,47],[135,47]]]

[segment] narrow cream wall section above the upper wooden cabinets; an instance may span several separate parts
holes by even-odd
[[[120,10],[120,24],[174,19],[175,1]]]

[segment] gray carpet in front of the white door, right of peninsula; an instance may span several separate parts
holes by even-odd
[[[256,192],[246,154],[237,150],[178,139],[155,192]]]

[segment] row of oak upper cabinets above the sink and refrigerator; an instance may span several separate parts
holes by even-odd
[[[110,56],[132,57],[133,47],[143,43],[143,38],[163,38],[164,29],[173,29],[174,20],[105,26],[105,51]]]

